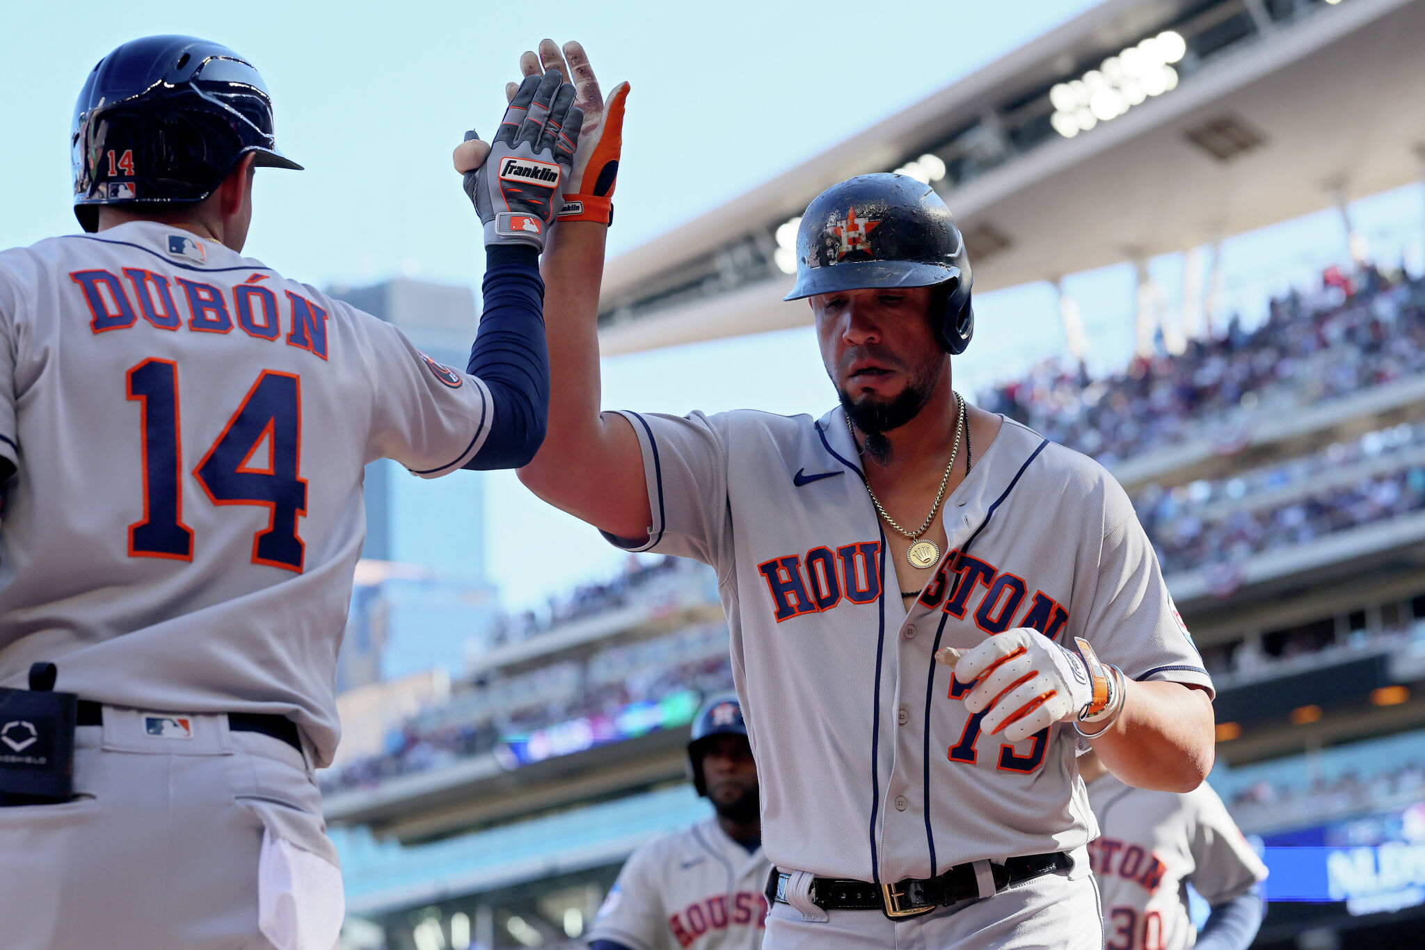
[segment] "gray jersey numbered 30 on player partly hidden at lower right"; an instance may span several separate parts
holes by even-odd
[[[1112,775],[1089,783],[1102,836],[1089,846],[1107,950],[1183,950],[1197,940],[1187,883],[1220,904],[1267,877],[1206,782],[1187,795],[1149,792]]]

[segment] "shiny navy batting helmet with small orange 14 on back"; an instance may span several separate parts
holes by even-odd
[[[276,150],[272,98],[251,63],[191,36],[150,36],[94,67],[74,104],[74,216],[98,205],[162,209],[212,194],[248,152],[301,168]]]

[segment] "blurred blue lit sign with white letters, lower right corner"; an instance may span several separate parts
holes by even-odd
[[[1345,902],[1352,916],[1425,903],[1425,803],[1265,842],[1268,900]]]

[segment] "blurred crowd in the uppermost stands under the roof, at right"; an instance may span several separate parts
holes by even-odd
[[[982,393],[980,404],[1112,469],[1211,434],[1244,404],[1310,406],[1422,370],[1425,279],[1369,265],[1355,276],[1328,268],[1318,289],[1273,301],[1255,329],[1234,318],[1220,339],[1134,359],[1103,379],[1047,360]]]

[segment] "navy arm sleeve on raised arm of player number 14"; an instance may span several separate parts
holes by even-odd
[[[484,252],[484,312],[469,373],[490,389],[494,422],[466,469],[519,469],[544,443],[549,422],[549,346],[539,251],[492,245]]]

